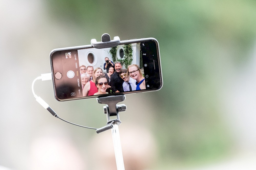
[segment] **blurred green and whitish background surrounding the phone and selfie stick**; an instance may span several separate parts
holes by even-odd
[[[163,88],[122,102],[126,170],[256,168],[255,1],[0,0],[0,16],[0,169],[116,168],[110,131],[62,122],[31,92],[52,49],[103,33],[160,47]],[[51,81],[35,92],[63,119],[106,123],[96,99],[58,102]]]

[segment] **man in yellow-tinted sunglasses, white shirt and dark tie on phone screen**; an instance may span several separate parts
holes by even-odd
[[[123,82],[123,89],[124,91],[133,91],[136,90],[136,80],[134,80],[133,78],[129,77],[129,75],[127,74],[127,70],[126,69],[122,69],[119,72],[119,76],[124,80]]]

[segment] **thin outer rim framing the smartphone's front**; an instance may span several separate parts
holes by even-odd
[[[99,97],[106,97],[106,96],[115,96],[115,95],[124,95],[124,94],[133,94],[133,93],[144,93],[149,91],[157,91],[160,90],[163,87],[163,76],[162,76],[162,67],[161,67],[161,59],[160,59],[160,52],[159,52],[159,43],[155,38],[140,38],[140,39],[133,39],[133,40],[123,40],[120,41],[119,45],[123,44],[130,44],[130,43],[139,43],[144,41],[153,40],[156,43],[157,46],[157,55],[158,55],[158,65],[159,65],[159,75],[160,75],[160,87],[158,89],[144,89],[141,91],[126,91],[124,93],[111,93],[111,94],[105,94],[105,95],[93,95],[93,96],[84,96],[84,97],[78,97],[78,98],[71,98],[71,99],[59,99],[57,98],[56,93],[56,85],[54,81],[54,69],[53,69],[53,62],[52,62],[52,55],[57,51],[66,51],[66,50],[79,50],[84,48],[94,48],[92,45],[83,45],[83,46],[75,46],[75,47],[66,47],[66,48],[57,48],[50,52],[50,65],[51,65],[51,73],[52,73],[52,83],[54,87],[54,97],[58,101],[71,101],[71,100],[80,100],[80,99],[88,99],[88,98],[99,98]]]

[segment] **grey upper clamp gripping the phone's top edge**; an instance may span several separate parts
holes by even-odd
[[[120,44],[120,38],[118,36],[115,36],[114,40],[111,40],[109,34],[102,34],[101,42],[97,42],[96,39],[91,40],[91,45],[94,48],[109,48],[109,47],[118,46],[119,44]]]

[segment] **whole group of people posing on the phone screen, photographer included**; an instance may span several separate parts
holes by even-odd
[[[100,67],[80,66],[83,96],[146,89],[145,78],[137,64],[122,69],[120,61],[113,63],[106,57],[103,70]]]

